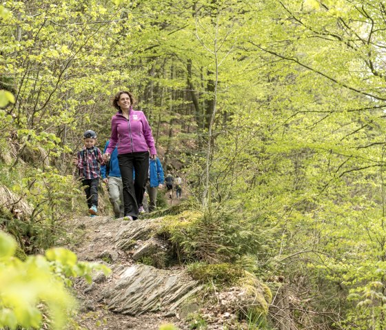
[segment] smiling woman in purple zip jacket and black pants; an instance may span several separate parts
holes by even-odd
[[[149,150],[150,158],[156,158],[152,129],[145,114],[132,109],[133,104],[130,92],[120,91],[114,96],[112,105],[118,112],[112,116],[110,143],[103,155],[107,160],[118,144],[125,217],[130,220],[136,220],[139,214],[145,213],[142,201],[148,178]]]

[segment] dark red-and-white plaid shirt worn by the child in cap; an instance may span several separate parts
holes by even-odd
[[[78,169],[81,178],[100,178],[101,169],[99,164],[104,164],[101,150],[97,147],[87,149],[83,147],[78,152]]]

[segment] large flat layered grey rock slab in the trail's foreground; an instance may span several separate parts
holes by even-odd
[[[111,311],[130,316],[154,311],[170,313],[201,289],[185,271],[174,273],[132,265],[116,275],[114,283],[101,292],[99,301],[105,302]]]

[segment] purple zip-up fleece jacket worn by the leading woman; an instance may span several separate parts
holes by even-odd
[[[129,120],[121,112],[116,112],[111,118],[111,137],[106,154],[111,154],[118,144],[118,154],[130,152],[147,152],[156,154],[152,129],[141,111],[130,107]]]

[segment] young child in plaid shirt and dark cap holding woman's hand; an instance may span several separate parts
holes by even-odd
[[[98,185],[101,178],[100,164],[103,164],[101,150],[95,147],[96,133],[87,130],[83,134],[84,147],[78,152],[79,176],[85,187],[85,196],[87,198],[88,212],[90,216],[98,214]]]

